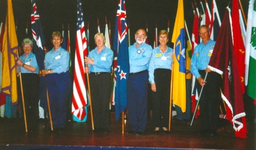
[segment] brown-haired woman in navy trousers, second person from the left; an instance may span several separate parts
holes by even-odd
[[[71,90],[69,75],[69,53],[61,47],[63,38],[60,32],[52,33],[53,48],[45,55],[45,76],[51,106],[52,126],[55,131],[63,131],[67,119],[68,96]]]

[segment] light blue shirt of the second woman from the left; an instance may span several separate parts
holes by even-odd
[[[53,49],[46,53],[45,70],[52,70],[54,73],[63,73],[68,71],[69,67],[69,52],[62,47],[55,52]]]

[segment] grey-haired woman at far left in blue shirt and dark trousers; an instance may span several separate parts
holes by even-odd
[[[22,41],[24,54],[20,56],[17,64],[20,66],[22,77],[22,87],[24,94],[24,103],[26,110],[26,118],[28,120],[28,129],[33,132],[36,131],[38,125],[38,95],[39,95],[39,77],[38,77],[38,64],[36,63],[36,56],[33,54],[33,41],[25,38]],[[20,82],[18,82],[20,84]],[[19,99],[21,98],[20,85]],[[21,103],[21,108],[23,103]],[[23,112],[23,111],[22,111]]]

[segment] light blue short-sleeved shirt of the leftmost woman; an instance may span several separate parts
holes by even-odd
[[[35,54],[33,54],[33,52],[31,52],[30,54],[28,54],[27,58],[25,59],[25,54],[23,54],[22,56],[20,56],[20,60],[29,65],[29,66],[33,66],[36,68],[36,71],[35,72],[32,72],[32,71],[28,71],[26,70],[25,68],[23,68],[22,66],[20,67],[20,72],[21,73],[36,73],[38,74],[39,72],[39,67],[38,67],[38,64],[36,62],[36,56]]]

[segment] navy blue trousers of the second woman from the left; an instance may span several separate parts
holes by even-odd
[[[64,128],[67,120],[68,96],[71,90],[70,75],[52,73],[46,75],[53,128]]]

